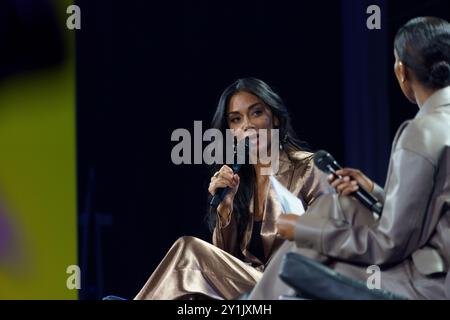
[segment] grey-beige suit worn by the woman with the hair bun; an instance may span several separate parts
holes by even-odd
[[[370,265],[381,288],[410,299],[450,298],[450,87],[436,91],[393,142],[382,215],[349,197],[324,195],[296,225],[250,298],[292,294],[279,278],[283,255],[297,251],[366,282]],[[296,244],[296,245],[295,245]]]

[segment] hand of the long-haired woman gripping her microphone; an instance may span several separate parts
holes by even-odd
[[[214,195],[218,188],[230,188],[223,201],[217,207],[217,211],[221,216],[228,216],[233,210],[233,200],[239,188],[239,181],[239,176],[234,174],[233,169],[227,165],[223,165],[222,168],[211,177],[211,182],[208,187],[208,192],[211,195]]]

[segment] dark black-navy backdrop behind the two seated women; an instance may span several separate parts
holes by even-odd
[[[393,75],[392,41],[448,1],[79,0],[80,298],[133,298],[180,236],[210,240],[205,165],[172,164],[173,130],[207,129],[238,78],[269,83],[298,135],[384,183],[390,143],[417,108]],[[381,7],[382,30],[365,22]]]

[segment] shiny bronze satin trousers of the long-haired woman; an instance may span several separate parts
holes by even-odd
[[[235,299],[250,292],[262,272],[195,237],[179,238],[135,300]]]

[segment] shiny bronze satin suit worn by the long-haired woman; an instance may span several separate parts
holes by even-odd
[[[319,195],[330,190],[326,176],[314,166],[310,153],[297,151],[288,156],[281,151],[279,160],[275,178],[298,195],[305,208]],[[277,238],[275,227],[282,209],[274,190],[269,186],[260,233],[264,261],[249,252],[254,222],[253,207],[252,200],[250,219],[240,243],[233,215],[227,225],[220,226],[217,222],[213,244],[194,237],[178,239],[135,299],[233,299],[249,292],[283,242]],[[238,259],[239,256],[243,260]]]

